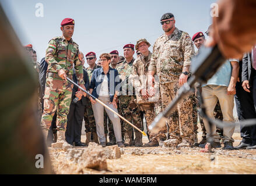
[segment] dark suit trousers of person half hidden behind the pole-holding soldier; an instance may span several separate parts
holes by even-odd
[[[66,125],[65,133],[66,141],[69,144],[81,141],[81,131],[84,112],[85,106],[82,105],[81,101],[70,104],[68,113],[68,123]]]

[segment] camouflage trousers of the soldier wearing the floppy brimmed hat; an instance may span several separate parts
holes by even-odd
[[[159,133],[155,134],[152,133],[152,131],[149,130],[150,124],[153,122],[155,119],[155,104],[154,103],[142,103],[141,107],[144,110],[144,116],[146,119],[146,125],[147,125],[147,131],[149,135],[149,141],[158,141],[159,139]]]

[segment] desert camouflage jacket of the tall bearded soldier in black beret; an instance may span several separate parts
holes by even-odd
[[[169,37],[163,34],[157,38],[149,70],[155,71],[161,84],[178,81],[183,66],[190,66],[194,53],[190,35],[175,28]]]

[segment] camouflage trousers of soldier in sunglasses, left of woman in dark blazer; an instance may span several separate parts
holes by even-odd
[[[85,132],[86,133],[96,133],[96,123],[93,115],[92,103],[86,98],[85,114],[83,119],[85,120]]]

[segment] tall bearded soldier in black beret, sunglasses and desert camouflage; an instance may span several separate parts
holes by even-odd
[[[160,19],[164,34],[157,38],[149,65],[149,75],[159,76],[162,109],[166,109],[175,98],[177,90],[187,82],[194,45],[188,33],[175,27],[172,13],[166,13]],[[183,98],[177,105],[177,117],[168,121],[170,140],[164,145],[192,146],[194,124],[192,121],[192,103],[189,97]],[[174,112],[175,113],[175,112]]]

